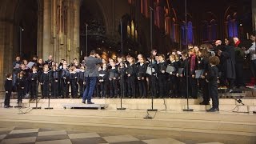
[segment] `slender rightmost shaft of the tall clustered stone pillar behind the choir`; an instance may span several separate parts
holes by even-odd
[[[71,58],[79,58],[80,54],[80,0],[74,0],[74,27]]]

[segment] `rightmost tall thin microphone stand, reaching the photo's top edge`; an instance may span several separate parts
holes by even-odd
[[[186,33],[186,54],[188,54],[189,47],[187,42],[187,14],[186,14],[186,0],[185,0],[185,33]],[[193,111],[189,106],[189,59],[186,62],[186,109],[183,111]]]

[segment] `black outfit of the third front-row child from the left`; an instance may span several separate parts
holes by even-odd
[[[30,93],[31,99],[37,98],[38,96],[38,73],[31,73],[29,76],[29,82],[31,84]]]

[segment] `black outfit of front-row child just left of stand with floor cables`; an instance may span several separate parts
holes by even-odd
[[[138,91],[141,98],[146,98],[146,63],[142,65],[138,63],[137,66],[137,78],[138,79]]]

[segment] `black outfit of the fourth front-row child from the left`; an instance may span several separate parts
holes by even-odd
[[[41,74],[40,82],[42,83],[42,98],[50,97],[50,81],[51,81],[50,72],[43,72]]]

